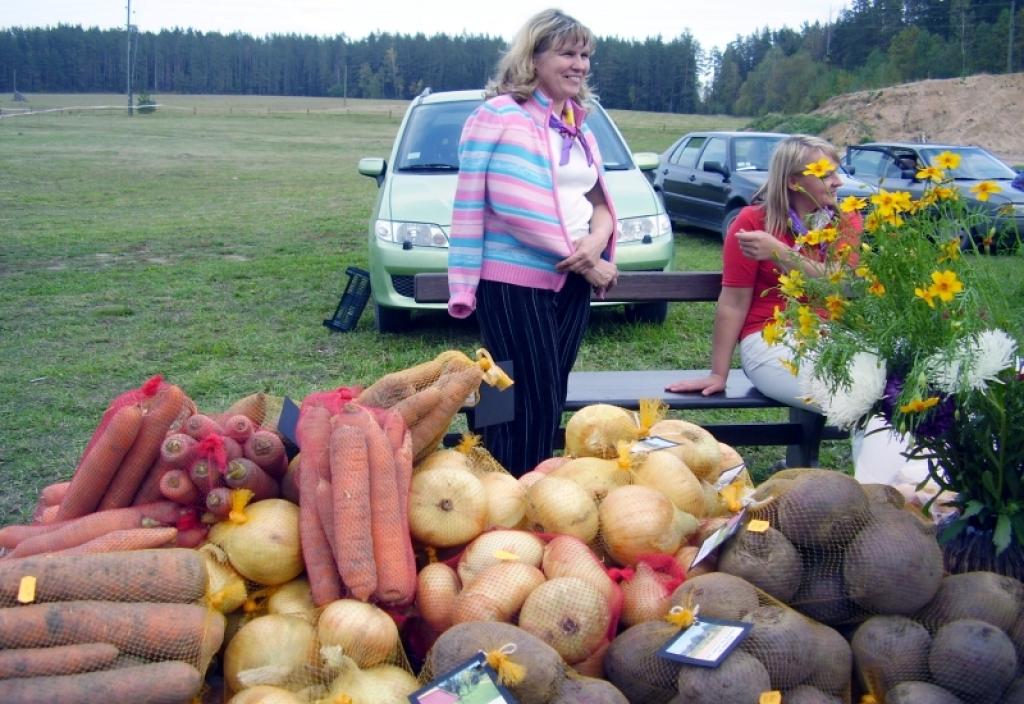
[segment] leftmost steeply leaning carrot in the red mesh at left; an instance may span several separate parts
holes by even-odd
[[[78,518],[96,510],[141,427],[142,407],[138,404],[123,406],[111,417],[79,461],[56,520]]]

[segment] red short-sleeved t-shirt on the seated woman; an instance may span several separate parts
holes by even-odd
[[[766,229],[764,206],[748,206],[739,211],[739,215],[732,222],[722,247],[722,285],[754,290],[751,308],[746,311],[743,327],[739,331],[740,340],[752,333],[760,333],[772,318],[775,306],[780,309],[785,308],[785,298],[777,289],[779,274],[785,271],[780,271],[779,264],[773,260],[757,261],[746,258],[736,239],[736,232],[739,230]],[[849,220],[849,230],[860,231],[860,217],[856,214]],[[788,228],[784,232],[774,234],[788,247],[796,244]]]

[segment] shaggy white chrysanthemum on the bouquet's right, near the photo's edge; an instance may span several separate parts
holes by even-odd
[[[934,354],[927,362],[931,382],[939,391],[984,391],[995,377],[1016,361],[1017,342],[1000,329],[984,331],[952,355]]]

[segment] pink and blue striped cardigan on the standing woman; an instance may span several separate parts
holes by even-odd
[[[598,184],[616,223],[604,184],[601,155],[573,103],[577,123],[594,153]],[[449,313],[467,317],[476,308],[480,279],[559,291],[567,274],[555,264],[572,253],[562,224],[548,141],[551,99],[540,90],[526,102],[499,95],[477,107],[459,143],[449,236]],[[615,234],[603,257],[614,257]]]

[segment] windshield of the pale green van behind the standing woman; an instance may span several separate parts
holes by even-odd
[[[395,168],[398,171],[451,173],[459,170],[459,137],[476,100],[418,105],[409,116]],[[633,168],[633,159],[607,114],[590,111],[587,125],[594,132],[605,171]]]

